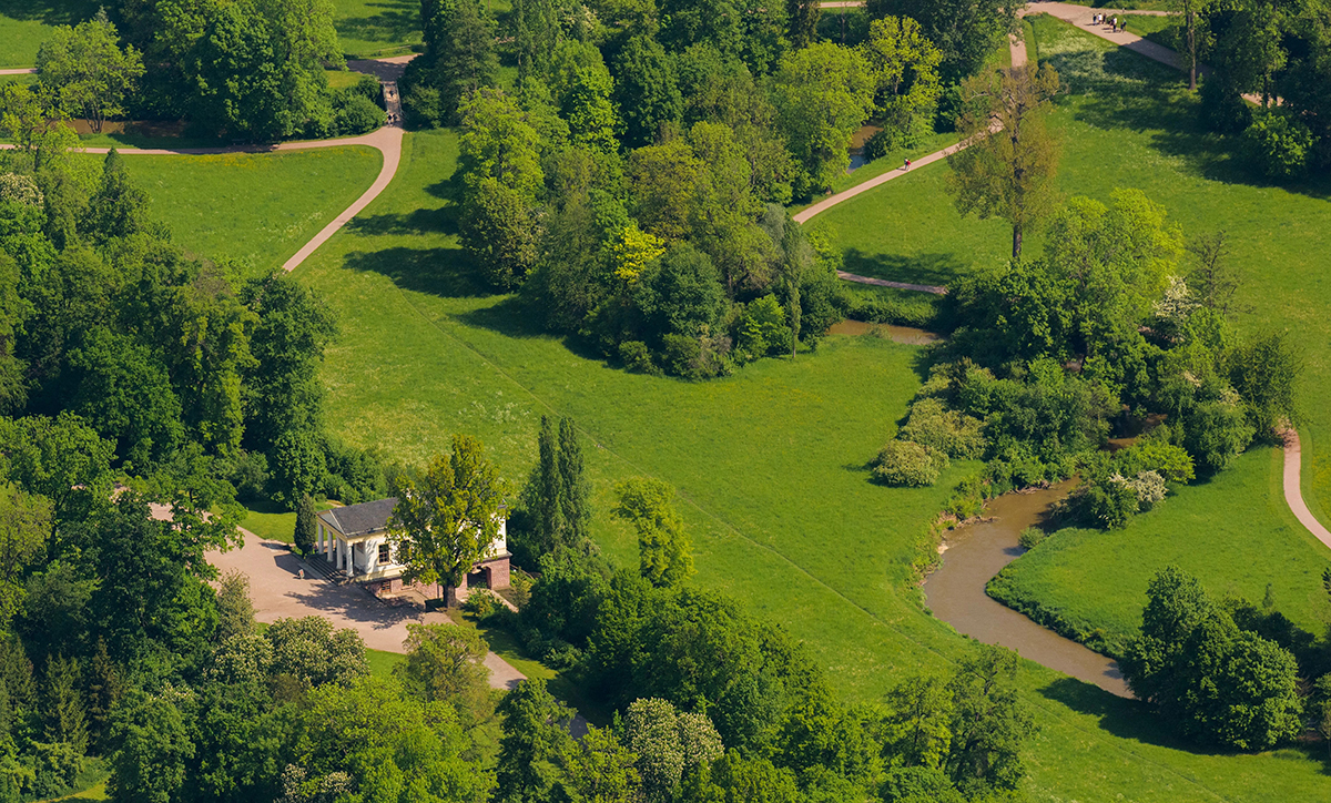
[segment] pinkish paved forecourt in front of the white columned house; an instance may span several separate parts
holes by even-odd
[[[249,577],[250,599],[260,622],[273,623],[284,617],[323,617],[334,627],[350,627],[359,633],[371,650],[402,653],[407,625],[450,621],[439,611],[421,614],[410,607],[389,607],[363,589],[325,579],[285,543],[265,541],[246,530],[241,533],[245,534],[244,547],[209,553],[208,559],[221,571],[236,569]],[[297,575],[301,569],[305,569],[305,579]],[[524,678],[494,653],[486,654],[484,663],[494,688],[512,688]]]

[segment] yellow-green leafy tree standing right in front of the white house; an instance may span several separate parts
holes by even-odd
[[[389,539],[406,575],[441,583],[451,603],[457,586],[499,534],[504,490],[480,441],[453,435],[449,455],[435,457],[419,482],[406,478],[397,490]]]

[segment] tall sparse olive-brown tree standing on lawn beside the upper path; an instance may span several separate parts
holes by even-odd
[[[960,120],[966,148],[952,154],[948,185],[962,214],[1012,224],[1012,258],[1022,236],[1053,212],[1058,144],[1045,125],[1058,73],[1047,64],[986,72],[962,84]]]

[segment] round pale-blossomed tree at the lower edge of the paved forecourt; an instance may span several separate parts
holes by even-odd
[[[282,618],[264,630],[273,646],[274,675],[290,675],[306,687],[345,686],[370,672],[365,642],[349,629],[333,630],[323,617]]]

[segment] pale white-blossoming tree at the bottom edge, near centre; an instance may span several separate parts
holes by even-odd
[[[724,750],[703,714],[680,714],[663,699],[639,699],[624,715],[624,740],[638,756],[648,800],[671,800],[685,772],[711,764]]]

